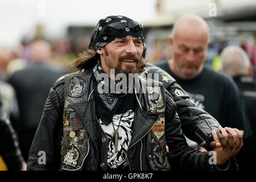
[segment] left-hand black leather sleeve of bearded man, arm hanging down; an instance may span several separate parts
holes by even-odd
[[[63,130],[64,79],[51,88],[31,144],[27,170],[58,170]]]

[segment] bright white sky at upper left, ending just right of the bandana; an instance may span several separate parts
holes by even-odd
[[[17,44],[44,25],[48,36],[65,35],[69,25],[96,26],[107,15],[125,15],[143,21],[156,15],[156,0],[8,0],[0,2],[0,48]]]

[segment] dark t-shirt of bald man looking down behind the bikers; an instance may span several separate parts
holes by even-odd
[[[205,65],[199,76],[191,80],[182,80],[174,75],[167,61],[156,66],[174,77],[191,100],[216,118],[222,127],[243,130],[245,138],[251,135],[242,96],[231,77]]]

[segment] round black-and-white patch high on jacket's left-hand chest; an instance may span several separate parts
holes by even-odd
[[[87,89],[87,81],[84,77],[74,76],[68,82],[68,94],[71,97],[80,97]]]

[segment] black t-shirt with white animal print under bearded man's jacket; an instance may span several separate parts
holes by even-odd
[[[97,94],[98,93],[96,90],[97,119],[105,134],[109,138],[108,170],[128,171],[129,166],[127,162],[126,151],[131,141],[131,134],[133,133],[132,125],[134,121],[134,110],[137,104],[135,93],[127,93],[125,96],[118,98],[113,108],[115,109],[115,113],[113,114],[113,119],[110,123],[102,121],[102,118],[106,117],[106,112],[108,110],[106,110],[106,107],[103,107],[100,104],[101,98],[97,97]],[[105,110],[105,112],[103,112],[103,110]],[[117,151],[115,151],[115,144],[113,141],[113,133],[115,130],[118,131],[118,135],[120,137],[118,140]]]

